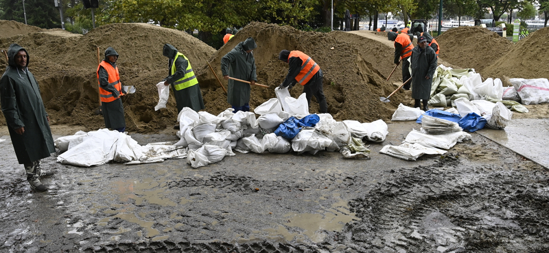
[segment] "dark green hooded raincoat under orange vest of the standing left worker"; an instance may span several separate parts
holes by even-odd
[[[108,49],[105,51],[105,59],[104,62],[110,64],[113,66],[113,68],[116,68],[116,64],[113,62],[109,62],[107,56],[108,55],[116,55],[118,56],[118,53],[113,49],[112,47],[108,47]],[[112,102],[102,102],[101,108],[103,110],[103,118],[105,120],[105,127],[108,129],[121,129],[126,127],[126,120],[124,120],[124,107],[122,106],[122,100],[119,97],[118,90],[115,89],[115,86],[108,83],[108,72],[103,68],[102,66],[99,67],[99,85],[101,85],[101,88],[104,90],[113,93],[115,96],[118,96],[118,98],[115,101]],[[122,86],[122,92],[124,92],[124,85]],[[126,92],[124,92],[126,93]]]

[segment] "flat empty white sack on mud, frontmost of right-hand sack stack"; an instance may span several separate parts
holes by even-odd
[[[386,145],[379,150],[380,153],[390,155],[391,157],[397,157],[407,161],[416,161],[418,157],[422,155],[443,155],[447,151],[439,148],[429,148],[422,146],[421,144],[403,143],[399,146]]]

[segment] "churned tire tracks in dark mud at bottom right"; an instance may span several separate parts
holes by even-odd
[[[547,172],[459,161],[402,169],[351,201],[362,222],[347,224],[351,238],[339,243],[356,252],[547,252]]]

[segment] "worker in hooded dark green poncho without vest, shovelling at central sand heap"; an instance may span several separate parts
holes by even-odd
[[[233,107],[234,112],[250,111],[250,85],[255,85],[257,81],[253,57],[253,49],[256,47],[255,40],[249,37],[221,58],[221,72],[229,83],[227,102]],[[229,77],[249,81],[250,84]]]

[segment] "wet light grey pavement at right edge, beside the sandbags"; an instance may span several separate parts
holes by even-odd
[[[523,157],[549,168],[549,120],[511,120],[504,130],[482,129],[480,135],[509,148]]]

